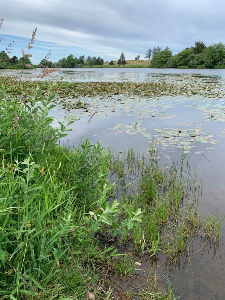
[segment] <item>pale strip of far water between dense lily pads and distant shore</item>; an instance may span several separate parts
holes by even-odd
[[[41,69],[24,70],[23,79],[36,79]],[[4,70],[6,76],[20,76],[21,70]],[[174,82],[179,78],[225,79],[225,69],[75,68],[59,69],[48,79],[63,81]]]

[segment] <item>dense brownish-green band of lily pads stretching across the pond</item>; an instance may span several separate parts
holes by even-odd
[[[77,98],[95,98],[96,96],[113,97],[122,94],[125,97],[139,96],[155,99],[172,95],[199,95],[203,97],[223,97],[223,80],[217,80],[216,84],[209,79],[193,79],[185,77],[182,80],[174,79],[176,83],[169,82],[57,82],[54,88],[57,93],[56,102],[64,102],[65,106],[76,108]],[[12,77],[4,77],[4,82],[12,94],[29,95],[37,85],[41,86],[43,93],[47,92],[50,82],[22,81],[18,89],[18,80]],[[70,102],[69,102],[70,101]],[[81,100],[80,100],[81,101]],[[82,102],[82,101],[81,101]]]

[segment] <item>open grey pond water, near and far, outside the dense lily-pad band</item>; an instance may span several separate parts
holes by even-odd
[[[40,70],[25,71],[24,79],[33,79],[39,72]],[[14,70],[5,71],[5,75],[18,76],[18,74],[19,72]],[[207,78],[211,79],[211,82],[213,79],[219,79],[223,84],[225,70],[61,69],[53,75],[53,79],[64,81],[180,83],[194,79],[194,82],[199,80],[200,84],[202,79]],[[85,138],[89,138],[93,143],[100,141],[102,146],[106,148],[110,146],[122,153],[133,147],[146,156],[148,156],[149,142],[154,140],[159,147],[161,164],[168,166],[184,151],[190,155],[192,171],[197,169],[199,175],[204,175],[202,195],[199,199],[201,217],[203,218],[207,212],[210,214],[217,212],[218,217],[223,219],[225,215],[225,97],[223,95],[221,98],[172,95],[157,99],[137,96],[125,98],[124,95],[115,95],[112,98],[86,97],[81,101],[92,106],[88,109],[71,109],[67,112],[63,107],[57,106],[52,111],[60,121],[64,120],[65,115],[74,115],[78,119],[72,125],[73,131],[68,133],[63,143],[67,146],[77,146],[88,119],[95,110],[98,110],[85,130]],[[160,269],[161,274],[175,284],[176,295],[180,295],[185,300],[225,299],[224,244],[225,230],[222,229],[220,253],[217,251],[216,257],[213,258],[213,249],[202,256],[199,244],[195,242],[190,251],[190,263],[184,265],[185,258],[182,258],[174,268]],[[158,258],[160,265],[163,265],[165,257],[162,255]],[[150,269],[151,261],[144,262],[142,268]]]

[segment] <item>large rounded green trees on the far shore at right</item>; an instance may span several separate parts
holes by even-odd
[[[149,48],[145,57],[152,58],[152,68],[225,68],[225,45],[218,42],[206,47],[204,41],[196,41],[175,55],[168,46]]]

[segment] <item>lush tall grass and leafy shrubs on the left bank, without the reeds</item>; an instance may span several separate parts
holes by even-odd
[[[0,295],[6,298],[41,298],[46,289],[64,289],[55,281],[68,262],[74,269],[64,239],[81,253],[95,243],[97,232],[126,238],[142,217],[140,208],[132,212],[116,199],[108,201],[113,184],[104,166],[109,155],[99,143],[84,140],[74,150],[56,144],[69,129],[65,122],[52,128],[53,97],[37,88],[29,102],[18,102],[1,85]],[[74,292],[76,298],[83,298],[82,291]]]

